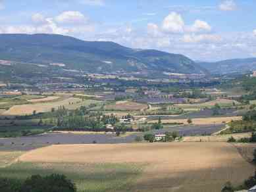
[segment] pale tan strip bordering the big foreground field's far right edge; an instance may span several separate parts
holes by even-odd
[[[241,139],[243,137],[251,137],[251,133],[234,133],[228,135],[211,135],[211,136],[188,136],[183,138],[183,142],[227,142],[228,138],[234,137]]]

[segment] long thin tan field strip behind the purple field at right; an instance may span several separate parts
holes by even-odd
[[[193,118],[192,124],[194,125],[206,125],[206,124],[222,124],[227,123],[231,120],[242,120],[242,116],[231,116],[231,117],[210,117],[210,118]],[[149,121],[149,123],[157,123],[158,120]],[[170,119],[162,120],[162,123],[182,123],[188,124],[188,119]]]

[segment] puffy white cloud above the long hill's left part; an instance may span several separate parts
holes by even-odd
[[[55,18],[59,23],[78,24],[87,22],[88,18],[79,11],[65,11]]]

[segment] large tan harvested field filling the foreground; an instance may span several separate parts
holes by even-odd
[[[238,185],[254,171],[228,143],[53,145],[30,151],[18,160],[43,165],[146,164],[140,178],[127,185],[126,191],[219,192],[226,181]]]

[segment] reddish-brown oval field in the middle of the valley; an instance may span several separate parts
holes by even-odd
[[[144,110],[147,109],[147,105],[131,101],[118,101],[115,105],[107,105],[105,108],[107,110]]]

